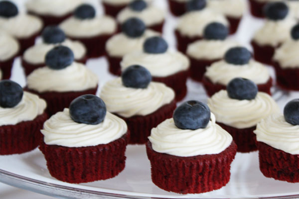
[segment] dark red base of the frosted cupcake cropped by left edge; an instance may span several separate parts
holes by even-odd
[[[44,112],[30,121],[0,126],[0,155],[20,154],[35,149],[42,141],[40,129],[47,118]]]

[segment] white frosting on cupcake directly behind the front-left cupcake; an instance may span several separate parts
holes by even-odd
[[[96,88],[97,84],[97,75],[77,62],[61,70],[38,68],[27,77],[27,87],[39,93],[84,91]]]

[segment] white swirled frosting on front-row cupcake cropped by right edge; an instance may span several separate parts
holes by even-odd
[[[254,133],[259,142],[299,155],[299,125],[288,123],[282,114],[273,114],[263,119]]]

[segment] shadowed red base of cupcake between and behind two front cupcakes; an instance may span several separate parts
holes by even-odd
[[[165,119],[171,118],[174,109],[176,108],[176,101],[172,100],[169,104],[165,104],[153,113],[148,115],[136,115],[132,117],[118,117],[126,121],[128,129],[130,130],[130,144],[144,144],[148,141],[150,131]]]

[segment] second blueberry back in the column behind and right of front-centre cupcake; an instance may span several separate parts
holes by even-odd
[[[224,59],[229,64],[244,65],[251,59],[251,53],[246,48],[234,47],[225,53]]]

